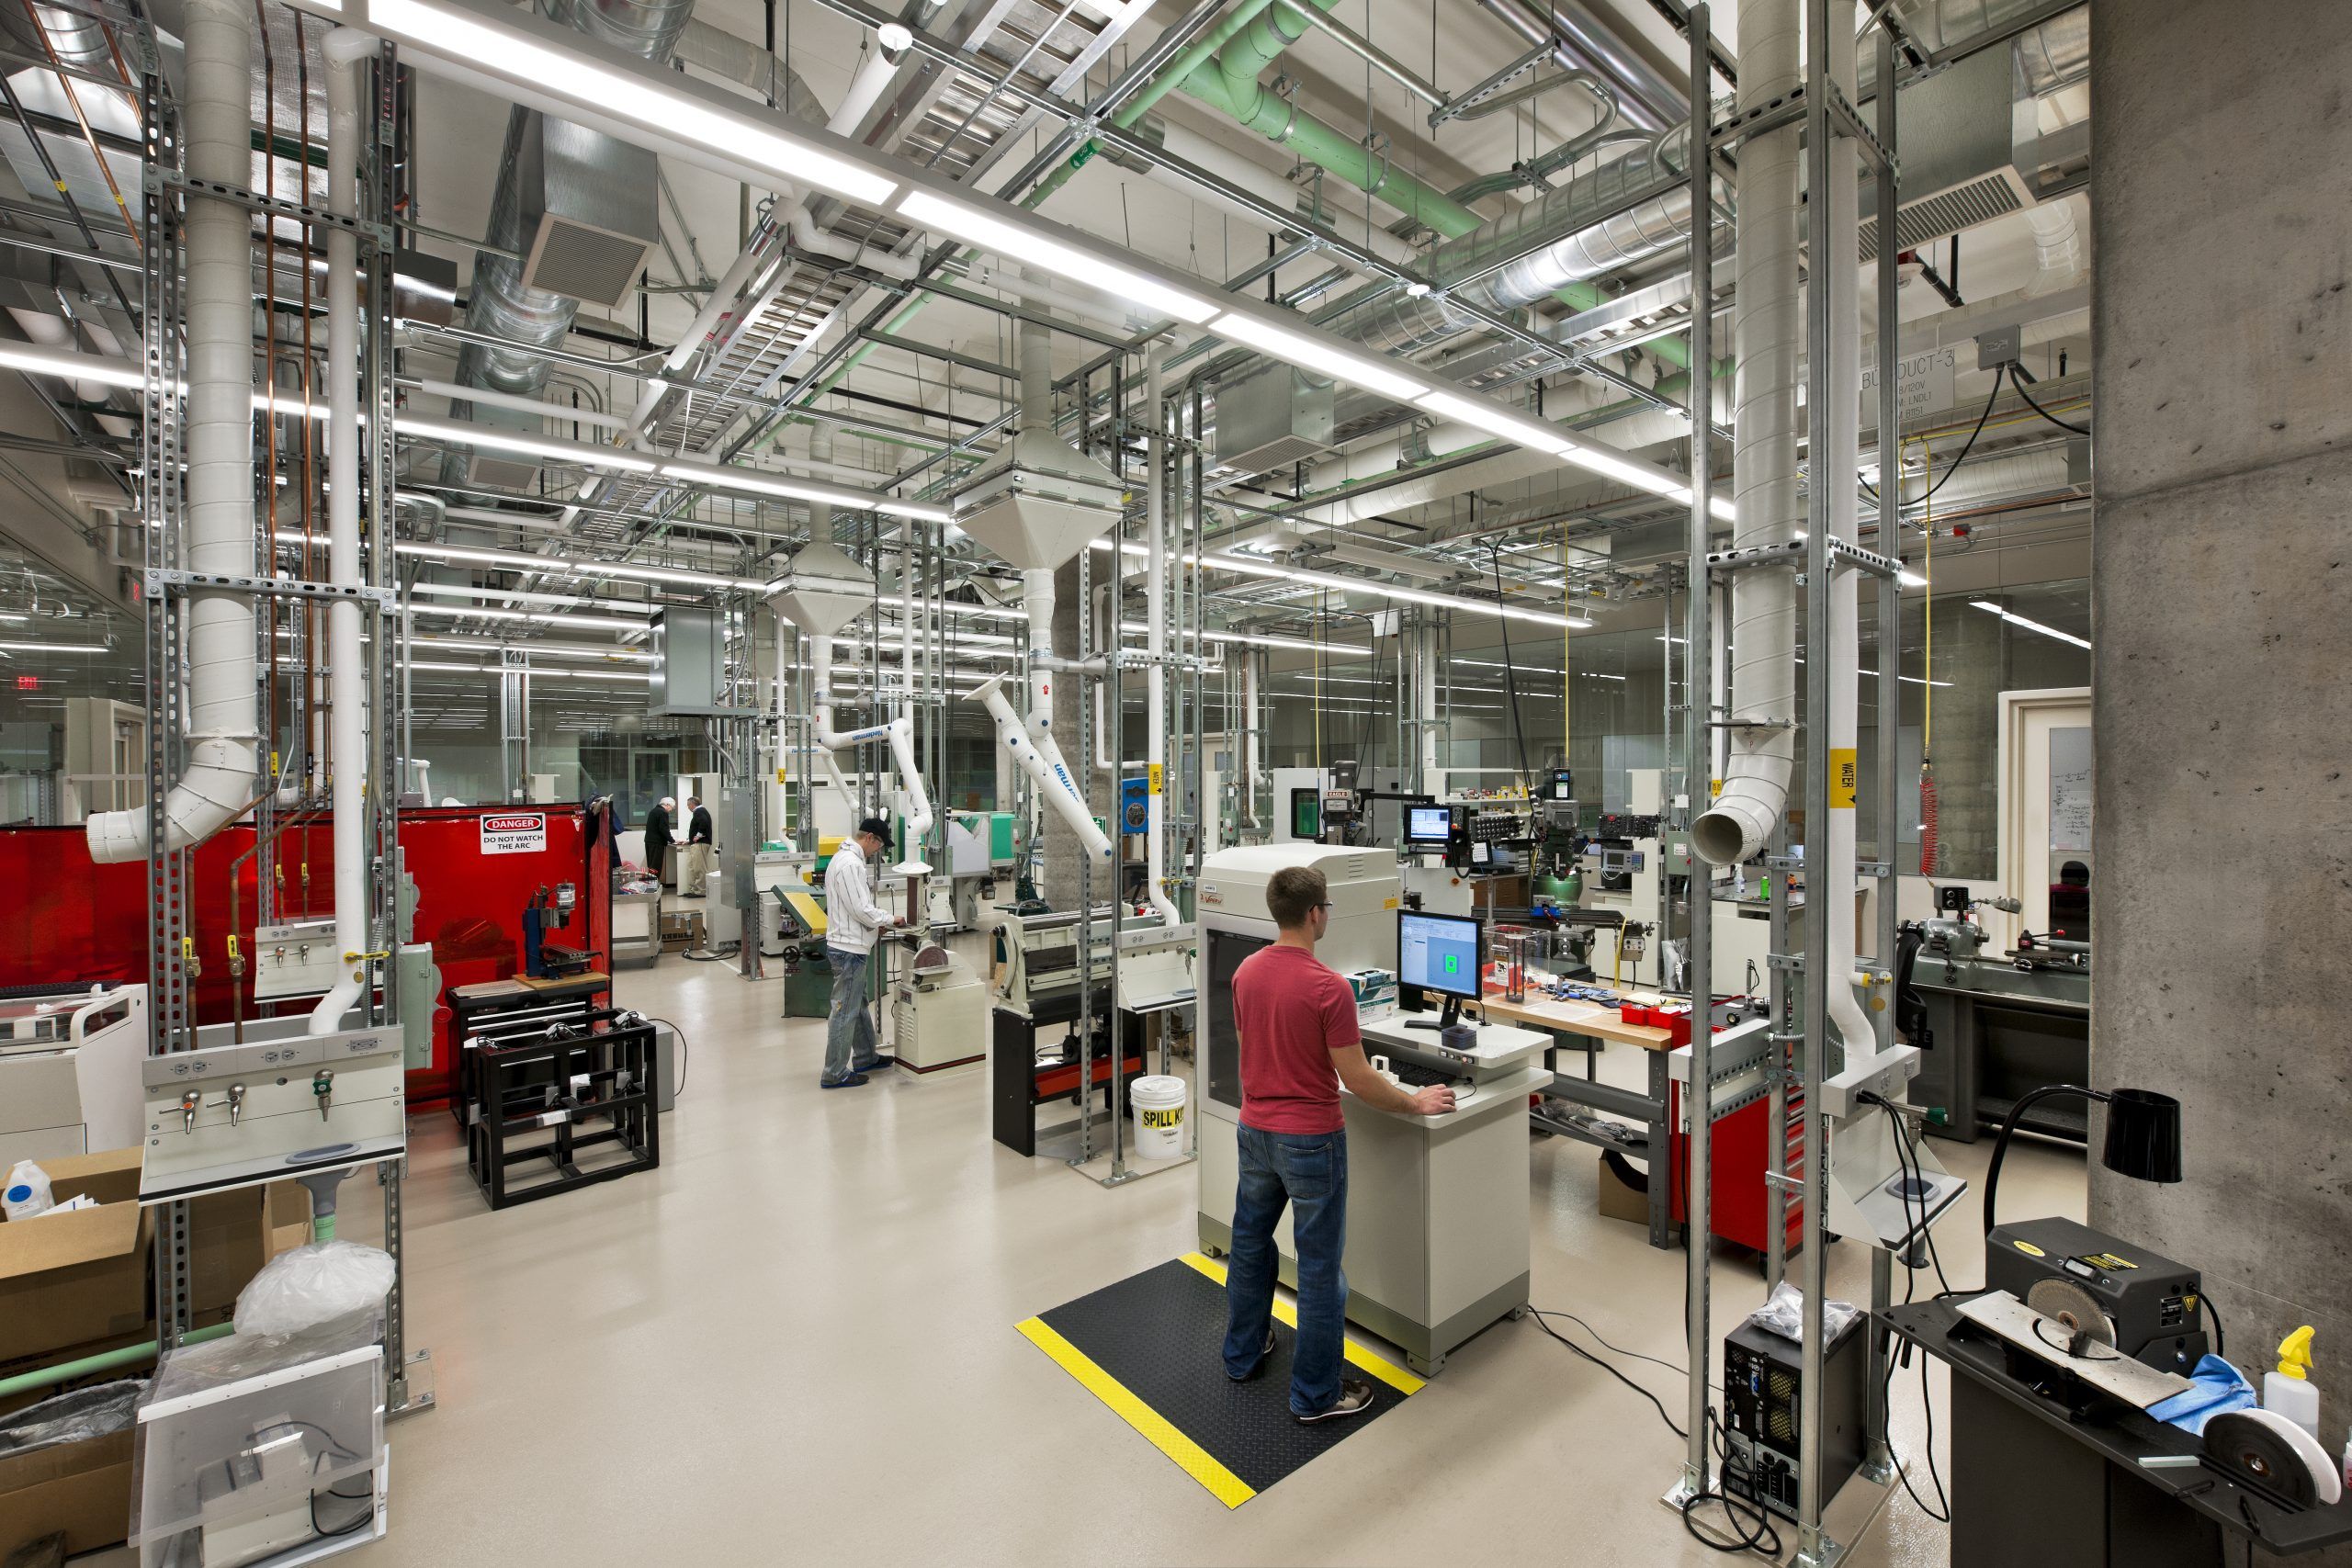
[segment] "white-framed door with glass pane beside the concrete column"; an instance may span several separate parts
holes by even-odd
[[[2016,922],[2046,933],[2089,936],[2091,858],[2091,689],[2002,693],[2002,891],[2023,903]],[[2053,914],[2056,903],[2060,905]]]

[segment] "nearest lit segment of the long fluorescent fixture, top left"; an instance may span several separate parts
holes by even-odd
[[[802,136],[786,136],[762,115],[729,113],[696,94],[661,87],[637,71],[600,63],[583,54],[593,47],[586,40],[555,47],[513,21],[492,21],[473,9],[435,5],[433,0],[369,0],[367,26],[421,45],[468,71],[494,71],[626,115],[659,134],[769,169],[795,186],[823,186],[868,207],[884,205],[898,188],[896,179],[828,153]]]

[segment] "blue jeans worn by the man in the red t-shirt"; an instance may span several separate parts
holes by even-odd
[[[1348,1133],[1261,1133],[1240,1128],[1242,1182],[1232,1197],[1232,1267],[1225,1269],[1225,1375],[1244,1378],[1265,1347],[1275,1309],[1275,1222],[1291,1206],[1298,1251],[1298,1345],[1291,1352],[1291,1413],[1319,1415],[1338,1401],[1341,1321],[1348,1276]]]

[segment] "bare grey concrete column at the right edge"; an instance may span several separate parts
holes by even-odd
[[[2352,1422],[2352,7],[2093,0],[2091,1077],[2187,1180],[2091,1222],[2204,1269]],[[2347,1563],[2352,1554],[2307,1561]]]

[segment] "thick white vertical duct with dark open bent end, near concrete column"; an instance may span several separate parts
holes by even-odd
[[[1740,0],[1740,110],[1797,89],[1802,75],[1797,0]],[[1766,132],[1740,148],[1738,353],[1733,421],[1736,548],[1776,545],[1804,527],[1797,501],[1797,386],[1804,362],[1804,296],[1797,287],[1802,228],[1799,127]],[[1691,823],[1691,849],[1710,865],[1736,865],[1764,849],[1797,766],[1797,574],[1743,571],[1731,585],[1731,731],[1724,790]],[[1851,661],[1849,661],[1851,663]],[[1832,922],[1835,924],[1835,922]],[[1832,990],[1837,990],[1832,985]]]

